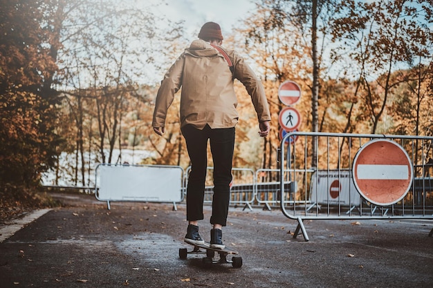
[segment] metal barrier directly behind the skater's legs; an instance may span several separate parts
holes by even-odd
[[[187,186],[187,177],[190,174],[191,166],[186,169],[185,187]],[[214,167],[208,167],[205,180],[205,198],[204,203],[212,203],[214,193],[213,186]],[[230,186],[230,205],[243,205],[243,209],[252,211],[252,203],[255,200],[255,173],[252,169],[232,168],[233,180]],[[186,188],[185,188],[186,193]]]

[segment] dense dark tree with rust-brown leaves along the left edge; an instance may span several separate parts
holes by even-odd
[[[57,71],[49,1],[0,1],[0,182],[34,187],[54,165]]]

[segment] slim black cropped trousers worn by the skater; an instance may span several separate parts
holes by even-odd
[[[192,125],[182,127],[191,160],[187,186],[187,220],[202,220],[205,178],[208,167],[208,140],[214,161],[214,196],[210,224],[226,225],[232,181],[234,127],[199,130]]]

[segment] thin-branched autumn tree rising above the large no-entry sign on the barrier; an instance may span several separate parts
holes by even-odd
[[[349,12],[348,12],[349,11]],[[333,23],[333,35],[340,55],[347,53],[360,84],[362,111],[358,119],[368,119],[371,133],[383,133],[380,121],[389,106],[389,97],[405,81],[394,73],[418,59],[431,61],[432,3],[429,1],[344,1],[340,17]],[[425,25],[427,24],[427,25]],[[344,52],[342,52],[344,51]],[[419,63],[422,64],[422,63]],[[418,83],[421,85],[421,83]]]

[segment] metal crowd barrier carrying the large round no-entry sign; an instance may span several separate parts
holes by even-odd
[[[293,238],[301,230],[309,240],[303,220],[433,219],[433,137],[292,132],[278,156],[280,207],[298,222]],[[287,193],[286,182],[297,189]]]

